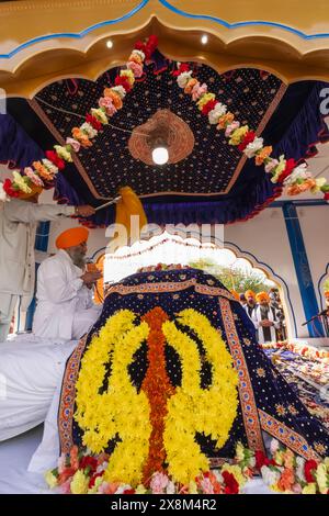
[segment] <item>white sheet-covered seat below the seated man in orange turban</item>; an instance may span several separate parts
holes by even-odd
[[[0,441],[45,420],[76,345],[32,335],[0,345]]]

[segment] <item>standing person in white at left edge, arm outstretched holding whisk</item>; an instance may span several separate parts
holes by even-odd
[[[60,215],[90,216],[92,206],[37,204],[38,193],[0,203],[0,343],[7,339],[18,298],[25,311],[34,291],[34,240],[39,222]],[[24,199],[24,200],[23,200]]]

